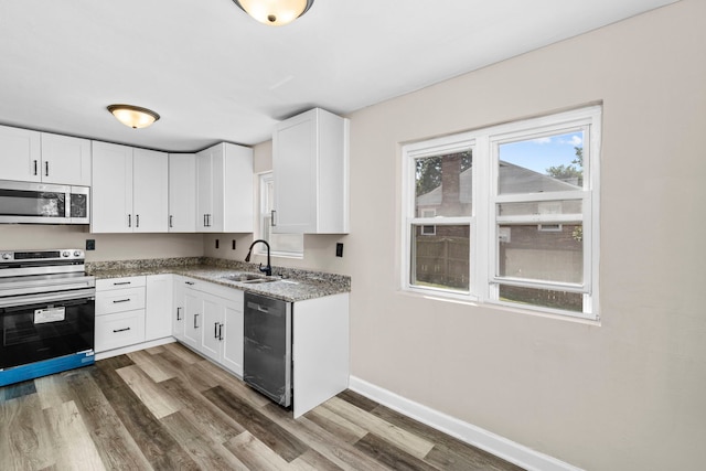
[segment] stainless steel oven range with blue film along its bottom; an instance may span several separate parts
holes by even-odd
[[[77,249],[0,251],[0,386],[95,362],[84,267]]]

